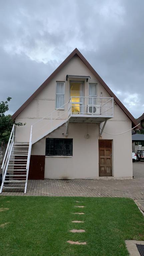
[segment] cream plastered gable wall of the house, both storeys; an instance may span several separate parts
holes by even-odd
[[[65,81],[65,102],[69,100],[69,81],[66,81],[67,74],[90,76],[91,79],[84,83],[84,96],[89,96],[89,83],[97,83],[97,96],[110,97],[104,87],[99,83],[91,71],[78,58],[73,57],[70,62],[51,80],[43,91],[19,114],[16,122],[26,122],[23,127],[16,128],[16,141],[29,141],[30,128],[33,123],[40,120],[55,110],[56,81]],[[80,80],[80,79],[77,79]],[[81,79],[83,80],[83,79]],[[64,110],[57,110],[58,117]],[[56,120],[61,123],[67,116],[64,114]],[[35,136],[39,136],[37,129],[41,129],[43,123],[35,126]],[[85,134],[90,133],[91,138],[86,139]],[[104,131],[108,133],[121,133],[131,129],[131,120],[114,104],[114,118],[107,121]],[[49,125],[45,126],[45,131]],[[64,138],[65,126],[58,128],[47,137]],[[69,132],[66,138],[73,138],[72,157],[47,157],[45,158],[45,178],[98,178],[98,139],[99,127],[97,124],[69,124]],[[113,140],[113,176],[115,178],[132,178],[132,138],[131,131],[123,135],[108,135],[103,133],[102,139]],[[43,138],[32,146],[32,155],[45,155],[46,139]],[[125,150],[123,144],[125,143]]]

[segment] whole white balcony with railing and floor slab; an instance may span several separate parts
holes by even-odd
[[[101,123],[114,117],[113,98],[71,97],[68,119],[74,123]]]

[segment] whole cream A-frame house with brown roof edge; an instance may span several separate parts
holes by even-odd
[[[33,125],[29,179],[133,177],[130,129],[138,122],[77,49],[13,119],[26,122],[16,127],[15,147],[28,147]]]

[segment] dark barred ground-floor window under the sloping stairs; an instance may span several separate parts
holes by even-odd
[[[46,138],[46,156],[72,156],[73,139]]]

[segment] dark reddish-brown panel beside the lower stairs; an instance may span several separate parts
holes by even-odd
[[[31,155],[29,165],[29,180],[44,180],[45,156]]]

